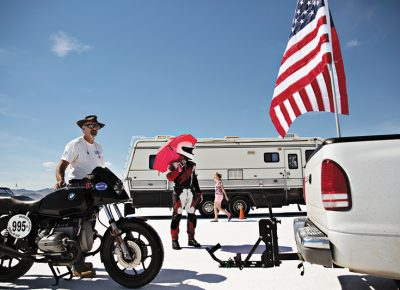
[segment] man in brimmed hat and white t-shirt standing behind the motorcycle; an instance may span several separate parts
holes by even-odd
[[[56,168],[57,183],[54,189],[60,189],[66,185],[65,170],[70,166],[69,182],[85,178],[96,167],[104,167],[103,150],[94,139],[104,124],[97,121],[97,116],[90,115],[79,120],[76,124],[82,129],[83,135],[70,141],[66,146],[61,160]],[[96,275],[92,263],[85,263],[81,258],[72,266],[74,276],[80,278],[92,278]]]

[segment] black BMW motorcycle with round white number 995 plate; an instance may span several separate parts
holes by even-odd
[[[71,265],[82,256],[100,252],[117,283],[129,288],[150,283],[161,269],[163,245],[145,220],[123,217],[117,203],[128,199],[121,180],[101,167],[38,201],[0,197],[0,281],[15,281],[33,263],[47,263],[57,285],[61,277],[72,279]],[[101,209],[110,224],[103,236],[94,229]],[[91,251],[96,239],[100,245]],[[67,272],[56,274],[59,266]]]

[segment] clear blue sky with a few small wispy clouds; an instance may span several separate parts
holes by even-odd
[[[268,115],[296,1],[0,1],[0,186],[55,183],[75,122],[122,173],[132,136],[276,137]],[[343,136],[400,133],[397,0],[329,1],[350,116]],[[308,113],[300,136],[336,135]]]

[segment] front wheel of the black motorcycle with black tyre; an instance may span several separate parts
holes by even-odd
[[[132,257],[127,260],[110,230],[105,233],[101,255],[111,278],[128,288],[149,284],[164,261],[164,248],[157,232],[144,222],[126,223],[119,227],[121,238]]]

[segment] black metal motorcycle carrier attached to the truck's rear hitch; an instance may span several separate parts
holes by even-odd
[[[261,219],[259,221],[259,238],[244,260],[242,260],[241,253],[237,253],[236,256],[233,257],[233,259],[230,258],[227,261],[222,261],[218,259],[214,253],[221,248],[221,245],[219,243],[211,249],[206,248],[206,250],[210,254],[210,256],[219,263],[219,267],[221,268],[239,268],[240,270],[242,270],[243,268],[272,268],[279,267],[283,260],[299,260],[299,256],[297,253],[279,252],[277,232],[278,223],[281,223],[281,221],[276,219],[272,215],[272,208],[271,205],[269,205],[269,218]],[[251,256],[254,254],[261,241],[265,244],[265,250],[261,255],[261,260],[251,261]],[[297,268],[300,269],[301,267],[303,267],[301,271],[301,275],[303,275],[304,266],[302,262],[297,266]]]

